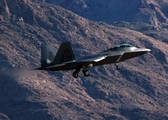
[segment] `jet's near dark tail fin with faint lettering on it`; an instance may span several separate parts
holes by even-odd
[[[61,43],[58,52],[56,54],[56,57],[54,58],[53,64],[59,64],[72,60],[75,60],[75,56],[72,51],[70,42]]]

